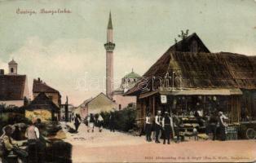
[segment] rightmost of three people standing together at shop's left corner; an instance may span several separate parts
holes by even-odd
[[[166,139],[167,143],[170,144],[170,130],[171,127],[173,126],[173,120],[169,116],[169,112],[165,112],[165,116],[162,118],[162,126],[164,129],[164,144],[166,144]]]

